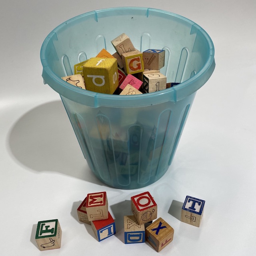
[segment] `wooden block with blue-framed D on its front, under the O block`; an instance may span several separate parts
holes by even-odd
[[[145,242],[145,226],[139,225],[136,218],[124,216],[124,243],[135,244]]]

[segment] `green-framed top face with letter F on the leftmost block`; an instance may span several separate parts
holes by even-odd
[[[58,220],[39,221],[36,228],[36,239],[56,236]]]

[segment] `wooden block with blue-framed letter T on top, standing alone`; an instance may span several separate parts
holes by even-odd
[[[181,210],[182,222],[199,227],[204,212],[204,200],[194,198],[192,196],[186,196],[185,202]]]

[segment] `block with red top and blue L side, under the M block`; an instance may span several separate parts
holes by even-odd
[[[111,214],[108,212],[106,220],[93,220],[92,230],[99,242],[116,234],[116,225]]]

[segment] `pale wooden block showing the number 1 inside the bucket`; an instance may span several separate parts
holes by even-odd
[[[161,73],[144,74],[143,90],[145,92],[157,92],[166,89],[166,76]]]

